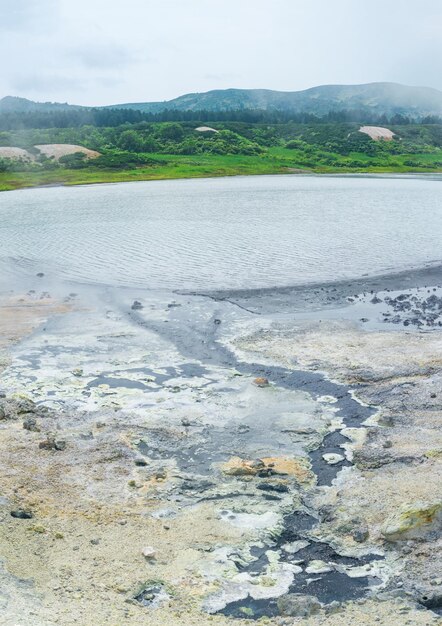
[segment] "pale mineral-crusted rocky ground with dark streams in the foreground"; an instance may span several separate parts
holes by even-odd
[[[0,623],[438,623],[440,296],[385,286],[5,296]]]

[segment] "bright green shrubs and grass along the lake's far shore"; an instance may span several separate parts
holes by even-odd
[[[199,125],[219,132],[198,132]],[[31,163],[0,159],[0,190],[45,184],[85,184],[166,178],[290,172],[442,171],[442,124],[390,125],[393,141],[373,141],[353,122],[139,122],[119,126],[33,128],[0,132],[0,146],[27,149]],[[79,144],[59,162],[37,144]]]

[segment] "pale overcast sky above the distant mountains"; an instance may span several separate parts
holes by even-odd
[[[113,104],[227,87],[442,89],[442,0],[0,0],[0,97]]]

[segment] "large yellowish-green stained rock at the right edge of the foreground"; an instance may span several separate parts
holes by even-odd
[[[436,530],[442,522],[442,501],[403,505],[381,528],[387,541],[405,541]]]

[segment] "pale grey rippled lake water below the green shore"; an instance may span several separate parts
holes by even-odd
[[[0,194],[3,274],[294,285],[442,259],[442,177],[254,176]]]

